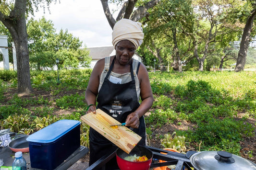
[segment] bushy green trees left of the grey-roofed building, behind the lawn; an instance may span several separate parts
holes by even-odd
[[[79,64],[87,67],[90,63],[89,51],[80,49],[82,41],[73,37],[68,30],[56,33],[53,23],[42,17],[39,21],[30,19],[27,24],[29,58],[37,69],[52,68],[59,58],[59,67],[77,68]]]

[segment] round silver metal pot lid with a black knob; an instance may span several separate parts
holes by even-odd
[[[253,162],[225,151],[197,152],[190,160],[196,170],[256,170]]]

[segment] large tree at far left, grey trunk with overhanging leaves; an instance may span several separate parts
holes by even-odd
[[[26,14],[33,14],[33,6],[46,3],[48,6],[53,0],[1,0],[0,21],[12,35],[17,57],[17,80],[19,93],[33,91],[30,80],[28,39],[26,30]],[[55,0],[56,1],[56,0]]]

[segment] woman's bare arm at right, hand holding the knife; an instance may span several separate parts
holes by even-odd
[[[133,113],[127,116],[125,121],[126,126],[131,126],[134,128],[139,127],[139,118],[150,109],[154,102],[154,97],[151,90],[148,73],[145,65],[143,65],[142,63],[139,68],[138,79],[140,81],[140,97],[142,102]]]

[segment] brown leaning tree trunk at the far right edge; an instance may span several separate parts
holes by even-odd
[[[244,32],[243,32],[241,43],[240,43],[240,49],[239,49],[238,57],[236,61],[235,72],[244,70],[247,51],[249,47],[250,34],[253,26],[253,20],[256,15],[256,9],[254,9],[251,13],[252,15],[248,17],[246,24],[244,26]]]

